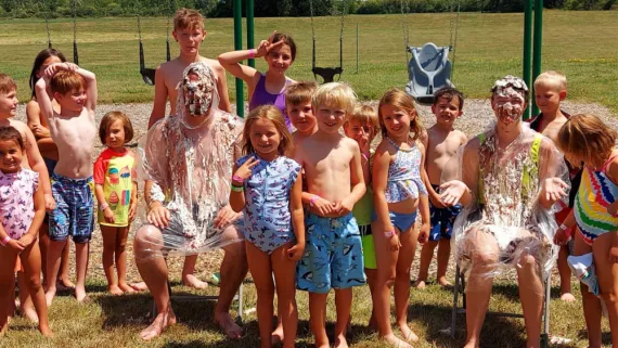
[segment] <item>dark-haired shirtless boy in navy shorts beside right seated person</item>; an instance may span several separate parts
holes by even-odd
[[[414,283],[417,288],[425,288],[429,263],[434,250],[438,247],[438,284],[450,286],[447,280],[447,267],[451,254],[451,231],[453,222],[461,211],[461,206],[447,207],[440,199],[440,177],[442,169],[456,153],[458,149],[467,142],[467,137],[454,129],[454,121],[463,114],[464,96],[454,88],[443,88],[436,92],[432,112],[436,116],[436,124],[427,129],[427,137],[423,139],[427,149],[425,169],[427,181],[425,186],[429,192],[430,224],[429,241],[421,250],[421,269]],[[430,189],[429,189],[430,188]]]

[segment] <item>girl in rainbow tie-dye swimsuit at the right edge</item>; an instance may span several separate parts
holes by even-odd
[[[607,307],[611,346],[618,347],[618,134],[592,115],[575,115],[561,129],[557,145],[570,163],[583,162],[575,199],[575,256],[592,253],[598,289]],[[592,268],[591,268],[592,269]],[[583,283],[582,283],[583,284]],[[582,285],[590,347],[601,347],[598,298]]]

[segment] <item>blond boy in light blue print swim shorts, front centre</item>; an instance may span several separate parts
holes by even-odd
[[[302,192],[306,245],[297,267],[297,287],[309,292],[316,347],[330,347],[326,299],[335,289],[335,346],[347,346],[352,286],[365,283],[361,234],[351,212],[365,193],[361,153],[355,140],[339,133],[353,112],[356,95],[348,86],[331,82],[318,88],[311,104],[318,131],[299,140],[296,149],[307,179],[307,192]]]

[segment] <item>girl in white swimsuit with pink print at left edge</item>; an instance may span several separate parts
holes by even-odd
[[[46,204],[39,175],[21,167],[24,140],[13,127],[0,127],[0,334],[7,331],[12,311],[12,288],[15,282],[14,265],[20,257],[26,272],[28,291],[33,297],[39,331],[52,335],[48,323],[46,294],[41,287],[41,256],[37,235]]]

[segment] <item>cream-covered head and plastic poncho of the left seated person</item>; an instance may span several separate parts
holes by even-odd
[[[217,108],[216,79],[207,65],[194,63],[183,76],[177,115],[156,123],[140,142],[139,175],[153,182],[151,198],[170,212],[163,241],[158,231],[149,235],[153,252],[192,255],[242,240],[241,233],[223,236],[228,227],[216,228],[214,220],[229,203],[243,120]]]

